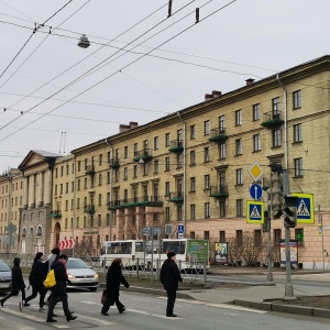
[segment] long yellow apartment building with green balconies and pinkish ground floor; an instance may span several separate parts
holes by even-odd
[[[299,238],[299,263],[328,263],[330,233],[319,234],[319,221],[330,226],[329,68],[326,55],[248,79],[239,89],[213,90],[198,105],[144,125],[122,124],[118,134],[55,156],[51,244],[73,238],[77,249],[85,246],[81,253],[98,254],[105,240],[141,239],[142,228],[165,224],[173,238],[184,224],[185,237],[242,243],[251,232],[257,243],[261,226],[246,223],[249,168],[260,164],[266,187],[270,165],[278,163],[287,168],[289,191],[314,194],[319,206],[314,224],[290,230],[292,239]],[[272,220],[275,245],[279,239],[283,219]]]

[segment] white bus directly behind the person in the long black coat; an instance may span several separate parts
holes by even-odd
[[[122,240],[122,241],[105,241],[102,243],[100,264],[103,267],[109,267],[116,257],[122,260],[122,265],[125,268],[136,267],[138,258],[144,257],[143,240]]]

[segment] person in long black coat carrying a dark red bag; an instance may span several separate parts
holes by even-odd
[[[107,273],[107,296],[101,310],[101,314],[108,316],[110,306],[116,304],[120,314],[125,311],[125,307],[119,300],[119,287],[120,284],[127,288],[130,287],[129,283],[124,278],[121,272],[121,258],[114,258]]]

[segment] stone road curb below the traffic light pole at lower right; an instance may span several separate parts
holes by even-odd
[[[276,302],[256,302],[256,301],[246,301],[246,300],[233,300],[233,305],[249,307],[254,309],[262,309],[268,311],[279,311],[288,312],[296,315],[306,315],[315,316],[321,318],[330,318],[330,309],[307,307],[307,306],[297,306],[297,305],[282,305]]]

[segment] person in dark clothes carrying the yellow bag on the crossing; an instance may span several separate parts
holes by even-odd
[[[54,270],[56,284],[51,288],[52,290],[52,299],[50,301],[50,308],[47,314],[47,322],[57,322],[54,317],[54,308],[57,304],[57,299],[61,298],[63,311],[66,316],[67,321],[73,321],[77,317],[73,316],[68,308],[67,293],[66,293],[66,284],[69,283],[67,273],[66,273],[66,263],[67,255],[61,254],[57,261],[54,261],[51,268]]]

